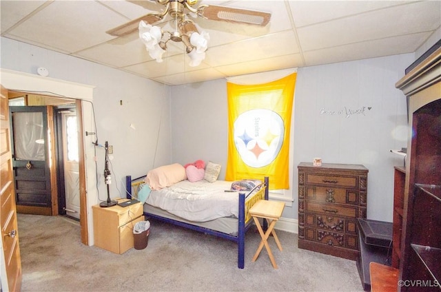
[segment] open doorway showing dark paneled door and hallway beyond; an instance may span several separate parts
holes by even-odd
[[[83,212],[81,212],[81,170],[79,167],[81,135],[79,135],[79,125],[82,118],[78,114],[78,112],[81,114],[81,110],[77,110],[77,107],[81,104],[71,98],[58,98],[25,92],[10,91],[9,96],[12,97],[10,98],[10,105],[13,105],[10,107],[12,108],[12,132],[14,132],[14,111],[22,114],[23,112],[34,112],[39,109],[51,113],[43,115],[43,120],[45,120],[47,126],[43,131],[45,139],[40,139],[44,140],[43,145],[46,145],[45,156],[48,157],[48,160],[40,159],[43,161],[35,163],[31,160],[17,160],[18,164],[23,164],[23,169],[29,167],[27,171],[23,170],[22,173],[30,174],[35,171],[49,176],[49,179],[45,180],[46,183],[41,183],[41,180],[40,182],[31,182],[26,178],[26,187],[19,189],[18,186],[23,184],[18,183],[21,176],[17,176],[17,211],[19,213],[65,215],[81,221],[81,213]],[[20,121],[19,118],[17,118],[17,121]],[[27,123],[24,121],[22,124],[26,125]],[[18,126],[19,124],[17,124]],[[30,129],[30,132],[34,132],[34,130]],[[31,133],[29,136],[32,135]],[[14,136],[12,140],[16,140]],[[18,145],[14,142],[12,144],[13,148]],[[39,171],[37,165],[41,165],[40,169],[45,169],[45,171]],[[30,177],[32,178],[34,175],[30,175]],[[45,197],[43,200],[45,209],[41,207],[43,200],[41,200],[41,194],[38,194],[39,190],[34,186],[35,184],[44,185]],[[42,210],[43,213],[41,213]]]

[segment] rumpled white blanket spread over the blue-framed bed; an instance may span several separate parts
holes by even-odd
[[[145,200],[176,216],[195,222],[205,222],[220,217],[238,217],[238,191],[226,192],[232,182],[201,180],[190,183],[183,180],[171,187],[152,191]]]

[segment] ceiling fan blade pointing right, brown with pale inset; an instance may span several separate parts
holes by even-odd
[[[267,25],[271,18],[271,13],[267,12],[215,5],[201,6],[198,15],[206,19],[248,23],[261,26]]]

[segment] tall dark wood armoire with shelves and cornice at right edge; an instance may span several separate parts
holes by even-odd
[[[441,291],[441,48],[396,83],[408,98],[399,291]],[[394,222],[396,223],[396,222]],[[400,234],[397,234],[399,233]]]

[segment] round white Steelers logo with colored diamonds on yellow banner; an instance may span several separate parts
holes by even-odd
[[[249,167],[264,167],[276,159],[284,134],[283,119],[271,110],[249,110],[234,122],[234,145]]]

